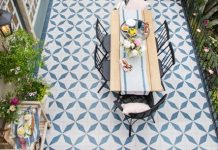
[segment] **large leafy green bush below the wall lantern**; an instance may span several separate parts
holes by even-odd
[[[0,52],[0,77],[5,82],[18,84],[33,76],[35,67],[41,66],[42,50],[32,34],[17,30],[7,39],[6,51]]]

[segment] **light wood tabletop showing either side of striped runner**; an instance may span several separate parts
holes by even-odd
[[[148,71],[148,84],[150,91],[162,91],[160,71],[158,65],[157,48],[154,36],[154,26],[152,13],[150,10],[142,10],[142,19],[149,23],[150,34],[146,39],[146,55],[148,57],[146,68]],[[121,71],[120,71],[120,16],[119,10],[113,10],[111,13],[111,65],[110,65],[110,90],[121,91]]]

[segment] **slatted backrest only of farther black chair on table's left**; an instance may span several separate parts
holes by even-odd
[[[104,36],[107,35],[108,33],[105,30],[105,28],[102,26],[102,24],[100,23],[98,18],[96,21],[95,31],[96,31],[97,39],[99,40],[100,43],[102,43]]]

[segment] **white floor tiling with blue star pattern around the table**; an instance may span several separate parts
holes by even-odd
[[[118,0],[55,0],[39,69],[51,84],[46,112],[52,122],[45,149],[218,149],[205,92],[180,2],[150,1],[155,26],[167,20],[176,64],[164,76],[166,103],[151,120],[140,120],[128,138],[128,125],[108,87],[97,93],[94,68],[96,17],[109,31]],[[110,31],[109,31],[110,32]],[[157,101],[164,93],[156,93]]]

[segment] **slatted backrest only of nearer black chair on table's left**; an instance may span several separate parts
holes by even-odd
[[[106,53],[98,45],[95,45],[95,51],[94,51],[94,61],[95,61],[95,68],[101,73],[103,76],[103,69],[102,69],[102,63],[106,59]]]

